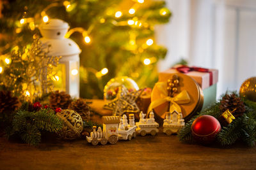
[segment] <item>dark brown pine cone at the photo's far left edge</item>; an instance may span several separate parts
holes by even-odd
[[[0,92],[0,113],[12,113],[16,108],[19,107],[18,97],[12,97],[10,91]]]

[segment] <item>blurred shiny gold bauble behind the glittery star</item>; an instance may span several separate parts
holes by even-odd
[[[118,87],[124,85],[129,92],[139,90],[137,83],[127,76],[112,78],[104,87],[104,99],[115,99],[118,94]]]

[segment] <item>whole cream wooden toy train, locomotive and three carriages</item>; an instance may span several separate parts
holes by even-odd
[[[90,136],[86,136],[88,143],[92,145],[106,145],[108,142],[110,144],[115,144],[118,140],[131,140],[132,137],[136,137],[136,133],[141,136],[146,134],[151,134],[155,136],[159,130],[159,124],[155,122],[154,113],[150,111],[149,118],[145,118],[145,114],[141,111],[140,122],[134,123],[134,114],[129,115],[129,124],[126,115],[123,117],[111,116],[102,117],[103,131],[101,127],[93,126],[93,132]],[[177,133],[180,128],[184,127],[184,119],[182,114],[177,111],[173,113],[166,113],[166,118],[164,119],[163,132],[170,135]]]

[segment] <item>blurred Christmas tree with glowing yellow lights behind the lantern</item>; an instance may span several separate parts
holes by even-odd
[[[70,0],[0,1],[0,80],[16,45],[26,46],[42,20],[65,20],[80,46],[81,97],[102,98],[113,77],[129,76],[139,87],[157,80],[156,63],[166,48],[154,42],[154,25],[169,21],[164,1]],[[81,34],[82,33],[82,34]]]

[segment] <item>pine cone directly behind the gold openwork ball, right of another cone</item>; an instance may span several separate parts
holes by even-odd
[[[84,99],[77,99],[71,104],[71,109],[79,113],[83,120],[90,120],[90,107]]]

